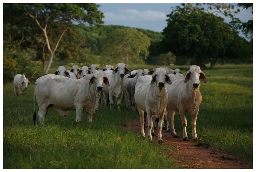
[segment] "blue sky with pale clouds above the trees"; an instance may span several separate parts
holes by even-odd
[[[105,25],[122,25],[138,27],[154,31],[163,31],[167,26],[166,15],[170,14],[171,7],[180,5],[179,3],[98,3],[105,18]],[[237,4],[234,4],[237,7]],[[246,22],[252,19],[250,10],[240,8],[240,12],[235,14],[241,21]],[[219,15],[220,16],[220,15]],[[228,17],[224,17],[229,22]]]

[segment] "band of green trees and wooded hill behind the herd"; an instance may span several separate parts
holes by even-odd
[[[238,4],[252,10],[252,4]],[[206,8],[205,8],[206,7]],[[234,17],[226,4],[180,4],[167,15],[163,32],[102,25],[94,3],[3,4],[4,81],[15,73],[48,73],[51,65],[252,63],[252,20]],[[226,23],[222,17],[229,16]],[[239,36],[242,31],[245,38]]]

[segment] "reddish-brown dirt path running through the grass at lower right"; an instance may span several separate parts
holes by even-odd
[[[147,122],[146,122],[147,124]],[[140,119],[135,119],[126,124],[125,129],[140,133]],[[145,134],[147,134],[147,127]],[[158,134],[158,131],[155,131]],[[188,169],[252,169],[253,163],[237,156],[225,153],[207,145],[189,141],[182,141],[182,138],[173,138],[166,130],[162,131],[163,144],[172,145],[172,150],[165,151],[165,156],[171,158],[175,162],[175,166]],[[152,137],[154,142],[157,142],[157,136]],[[199,144],[199,145],[198,145]],[[198,146],[195,146],[198,145]]]

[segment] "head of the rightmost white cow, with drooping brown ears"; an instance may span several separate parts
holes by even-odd
[[[187,71],[184,82],[187,83],[189,80],[191,81],[191,86],[196,89],[198,88],[200,79],[206,83],[207,79],[204,75],[204,72],[201,71],[199,66],[192,65],[190,69]]]

